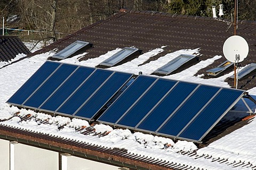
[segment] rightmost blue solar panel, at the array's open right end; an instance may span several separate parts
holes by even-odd
[[[235,89],[222,89],[179,137],[195,141],[201,140],[206,132],[211,130],[215,123],[233,107],[243,92]]]

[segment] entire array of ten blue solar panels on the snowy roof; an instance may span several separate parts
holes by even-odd
[[[128,86],[132,77],[47,61],[7,103],[198,142],[244,94],[243,90],[146,75]]]

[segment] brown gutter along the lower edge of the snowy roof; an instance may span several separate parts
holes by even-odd
[[[159,161],[153,161],[153,159],[147,159],[149,163],[145,161],[139,161],[138,159],[142,160],[141,156],[132,155],[127,153],[126,150],[118,148],[104,148],[101,146],[91,145],[89,143],[82,143],[70,139],[58,138],[49,134],[16,129],[5,125],[0,125],[0,139],[17,141],[25,145],[67,153],[73,156],[94,160],[96,162],[119,167],[127,167],[130,169],[172,169],[152,164],[154,162],[162,164]]]

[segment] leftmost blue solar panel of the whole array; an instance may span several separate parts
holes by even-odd
[[[9,104],[21,105],[61,63],[45,62],[21,88],[7,101]]]

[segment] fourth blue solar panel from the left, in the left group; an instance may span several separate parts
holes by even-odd
[[[57,113],[73,115],[112,73],[112,71],[108,70],[96,70],[65,104],[58,109]]]

